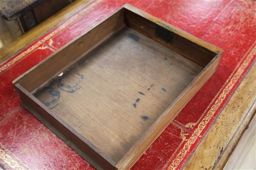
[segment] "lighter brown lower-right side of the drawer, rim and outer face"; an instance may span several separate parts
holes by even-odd
[[[130,169],[155,139],[164,131],[169,123],[181,112],[182,108],[191,100],[205,82],[216,71],[221,57],[216,57],[195,78],[193,82],[176,98],[176,100],[162,113],[155,123],[145,132],[141,139],[116,164],[118,170]]]

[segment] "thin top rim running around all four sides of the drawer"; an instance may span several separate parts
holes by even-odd
[[[195,76],[195,78],[193,79],[192,82],[189,83],[189,85],[182,91],[181,94],[179,94],[179,96],[175,99],[175,101],[173,101],[164,112],[162,112],[162,114],[155,120],[155,122],[148,127],[147,131],[144,132],[140,139],[138,139],[135,144],[125,153],[125,155],[118,161],[115,162],[114,160],[112,160],[110,157],[108,157],[107,155],[105,155],[100,149],[98,149],[96,146],[94,146],[89,140],[86,139],[86,137],[82,136],[80,133],[78,133],[76,130],[74,130],[73,127],[69,126],[64,120],[62,120],[61,118],[59,118],[53,111],[51,111],[48,107],[46,107],[41,101],[39,101],[36,97],[34,97],[33,93],[28,92],[25,88],[23,88],[18,81],[20,79],[22,79],[23,76],[25,76],[26,74],[28,74],[30,71],[34,70],[37,68],[38,65],[42,64],[43,62],[47,61],[49,58],[51,58],[52,56],[56,55],[56,53],[58,53],[59,51],[65,49],[68,45],[74,43],[77,39],[81,38],[84,34],[88,33],[89,31],[93,30],[95,27],[97,27],[98,25],[100,25],[102,22],[104,22],[105,20],[107,20],[108,18],[110,18],[111,16],[113,16],[115,13],[120,12],[122,9],[127,9],[133,13],[136,13],[138,15],[140,15],[141,17],[148,19],[149,21],[154,22],[155,24],[161,24],[161,25],[166,25],[166,27],[168,29],[170,29],[171,31],[175,32],[175,34],[180,35],[183,38],[186,38],[192,42],[194,42],[195,44],[198,44],[214,53],[216,53],[215,57],[213,57],[213,59],[202,69],[202,71]],[[140,154],[137,154],[136,157],[134,157],[132,155],[132,153],[134,153],[136,151],[136,148],[138,148],[141,144],[145,143],[145,139],[147,138],[147,136],[150,136],[154,133],[155,131],[155,127],[156,126],[160,126],[163,122],[164,119],[166,119],[166,117],[168,116],[168,114],[170,114],[170,111],[178,104],[178,102],[181,101],[182,97],[185,96],[185,94],[187,94],[189,92],[189,90],[191,90],[191,87],[193,85],[195,85],[196,82],[198,82],[199,78],[202,77],[203,74],[206,74],[206,71],[209,70],[210,66],[212,66],[214,63],[219,63],[221,55],[222,55],[223,50],[212,45],[209,44],[205,41],[203,41],[200,38],[197,38],[189,33],[187,33],[186,31],[182,31],[181,29],[170,25],[164,21],[162,21],[161,19],[155,18],[154,16],[141,11],[140,9],[135,8],[134,6],[131,6],[129,4],[125,4],[123,6],[121,6],[117,11],[115,11],[114,13],[112,13],[111,15],[109,15],[106,19],[103,19],[101,22],[99,22],[98,24],[92,26],[90,29],[88,29],[87,31],[83,32],[80,36],[74,38],[72,41],[70,41],[69,43],[67,43],[66,45],[64,45],[63,47],[61,47],[59,50],[57,50],[56,52],[54,52],[52,55],[50,55],[49,57],[47,57],[46,59],[44,59],[42,62],[36,64],[34,67],[32,67],[31,69],[27,70],[24,74],[22,74],[21,76],[19,76],[18,78],[16,78],[15,80],[13,80],[13,84],[15,86],[15,88],[18,90],[20,90],[21,92],[23,92],[25,95],[27,95],[27,97],[29,97],[31,100],[33,100],[36,104],[38,104],[42,109],[44,109],[47,113],[49,113],[55,120],[57,120],[58,122],[60,122],[63,126],[65,126],[70,132],[74,133],[74,135],[76,135],[79,139],[81,139],[82,142],[85,143],[85,145],[88,145],[91,149],[93,149],[100,157],[102,157],[103,159],[105,159],[106,161],[108,161],[109,164],[111,164],[113,166],[114,169],[127,169],[130,168],[133,164],[135,164],[135,161],[137,160],[137,158],[141,157],[141,155],[143,154],[143,152],[141,152]],[[217,68],[217,65],[215,66]],[[213,73],[215,72],[216,68],[214,69]],[[212,74],[213,74],[212,73]],[[212,75],[211,74],[211,75]],[[211,76],[210,75],[210,76]],[[210,77],[209,76],[209,77]],[[208,79],[207,79],[208,80]],[[204,82],[205,83],[205,82]],[[203,84],[204,84],[203,83]],[[200,89],[200,88],[199,88]],[[198,89],[198,90],[199,90]],[[197,90],[197,91],[198,91]],[[192,95],[193,97],[194,95]],[[192,98],[191,97],[191,98]],[[191,99],[190,98],[190,99]],[[188,101],[190,101],[190,99]],[[187,104],[187,103],[186,103]],[[186,105],[184,104],[184,106]],[[29,107],[29,106],[27,106]],[[31,109],[33,109],[32,107],[29,107]],[[34,109],[33,109],[34,110]],[[181,111],[181,110],[180,110]],[[178,113],[180,112],[178,111]],[[35,111],[34,111],[35,112]],[[178,114],[177,113],[177,114]],[[177,115],[176,114],[176,115]],[[175,115],[175,116],[176,116]],[[37,116],[36,116],[37,117]],[[47,121],[47,120],[46,120]],[[45,123],[44,123],[45,124]],[[169,124],[169,123],[168,123]],[[167,124],[167,126],[168,126]],[[167,127],[164,126],[161,129],[161,132],[157,132],[156,137],[153,138],[153,141],[149,142],[147,145],[150,146],[155,139],[162,133],[162,131],[164,131],[164,129]],[[55,132],[54,132],[55,133]],[[62,134],[62,133],[61,133]],[[148,146],[146,147],[146,149],[148,148]],[[146,150],[143,149],[143,150]],[[138,156],[139,155],[139,156]],[[88,159],[86,159],[88,161]],[[90,162],[90,161],[89,161]],[[91,163],[91,162],[90,162]],[[93,163],[91,163],[93,164]]]

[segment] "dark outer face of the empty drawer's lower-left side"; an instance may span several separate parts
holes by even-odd
[[[72,132],[69,128],[67,128],[67,125],[64,122],[61,122],[61,120],[56,119],[52,114],[50,114],[47,110],[48,108],[44,106],[42,103],[37,102],[35,97],[30,94],[26,89],[20,86],[20,84],[15,84],[16,91],[20,95],[21,100],[23,103],[27,106],[29,106],[35,113],[38,113],[40,115],[40,119],[42,118],[43,120],[47,121],[47,125],[50,125],[54,127],[54,129],[58,129],[58,132],[61,133],[59,135],[60,137],[63,135],[64,141],[68,140],[72,142],[72,145],[74,144],[77,148],[79,148],[82,152],[84,152],[86,155],[88,155],[90,160],[94,160],[93,162],[91,161],[94,166],[97,166],[98,164],[101,168],[107,169],[107,170],[116,170],[115,168],[115,162],[111,160],[110,158],[106,157],[103,153],[99,153],[100,151],[95,151],[97,150],[94,148],[93,145],[91,144],[86,144],[83,140],[81,139],[75,132]],[[33,100],[34,99],[34,100]],[[44,122],[44,121],[42,121]],[[53,131],[54,132],[54,131]],[[58,135],[58,133],[55,133]],[[62,138],[61,138],[62,139]],[[79,151],[78,151],[79,152]],[[104,155],[104,156],[101,156]],[[96,164],[95,164],[96,163]]]

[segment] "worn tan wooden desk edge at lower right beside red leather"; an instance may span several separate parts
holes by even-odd
[[[184,170],[222,169],[255,115],[256,64],[237,88]]]

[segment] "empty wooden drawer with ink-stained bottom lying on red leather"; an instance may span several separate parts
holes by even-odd
[[[98,169],[131,168],[215,72],[222,50],[125,5],[13,81]]]

